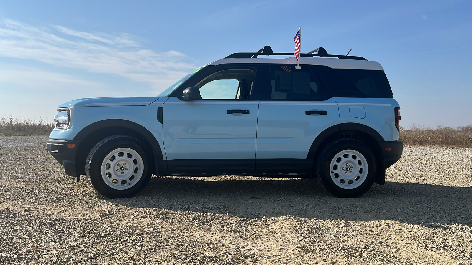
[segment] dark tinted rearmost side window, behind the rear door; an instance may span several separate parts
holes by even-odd
[[[332,69],[316,66],[333,97],[386,98],[379,70]],[[383,74],[385,76],[385,74]],[[385,77],[386,79],[387,77]],[[388,87],[391,91],[391,89]],[[388,95],[389,96],[389,95]]]

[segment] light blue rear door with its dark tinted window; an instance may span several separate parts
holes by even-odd
[[[339,124],[336,101],[312,66],[265,66],[264,79],[256,159],[305,159],[320,132]]]

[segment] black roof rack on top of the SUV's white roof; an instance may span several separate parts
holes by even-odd
[[[316,52],[316,53],[315,53]],[[233,54],[228,55],[225,59],[229,58],[237,58],[237,59],[244,59],[244,58],[257,58],[259,55],[292,55],[293,53],[289,52],[273,52],[270,46],[266,45],[262,47],[261,50],[257,52],[236,52]],[[351,60],[362,60],[367,61],[366,58],[360,56],[347,56],[347,55],[335,55],[335,54],[328,54],[325,48],[320,47],[318,49],[312,50],[309,53],[300,53],[300,57],[337,57],[339,59],[351,59]]]

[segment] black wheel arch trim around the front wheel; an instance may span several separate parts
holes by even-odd
[[[160,174],[158,165],[162,164],[160,161],[163,161],[163,157],[159,142],[154,135],[142,125],[122,119],[98,121],[87,125],[76,134],[74,140],[81,140],[76,152],[77,174],[85,174],[85,169],[81,165],[85,165],[88,153],[97,142],[105,137],[118,134],[128,135],[143,142],[143,149],[150,157],[149,162],[151,163],[150,169],[152,174]]]

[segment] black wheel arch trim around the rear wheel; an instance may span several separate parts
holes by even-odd
[[[375,155],[377,160],[377,178],[376,183],[383,185],[385,183],[385,162],[379,141],[385,141],[379,132],[364,124],[343,123],[336,124],[321,132],[313,141],[307,158],[313,159],[316,165],[317,157],[320,151],[331,141],[349,138],[363,142]]]

